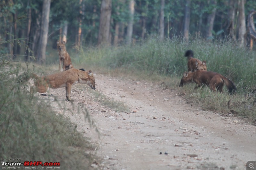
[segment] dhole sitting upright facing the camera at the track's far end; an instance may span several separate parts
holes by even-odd
[[[60,60],[60,66],[61,66],[61,62],[63,63],[62,67],[59,66],[59,71],[65,71],[68,70],[70,68],[73,68],[72,63],[71,63],[71,59],[70,56],[66,50],[66,46],[65,46],[66,42],[62,41],[59,42],[59,40],[57,41],[57,48],[58,48],[58,52],[59,52],[59,60]]]

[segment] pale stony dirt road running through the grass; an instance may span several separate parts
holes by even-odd
[[[88,109],[100,138],[84,121],[84,115],[63,112],[63,106],[52,103],[58,113],[69,117],[84,136],[91,138],[103,162],[96,161],[93,167],[246,169],[247,161],[255,161],[255,126],[244,120],[192,107],[175,91],[164,90],[157,84],[94,76],[96,90],[124,102],[130,109],[125,113],[115,112],[94,100],[87,85],[74,86],[71,98],[76,106],[85,105]],[[62,100],[65,107],[71,106],[70,102],[64,102],[64,88],[51,89],[50,93]]]

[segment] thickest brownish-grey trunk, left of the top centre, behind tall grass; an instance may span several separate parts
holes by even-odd
[[[98,36],[98,45],[108,44],[110,18],[112,10],[112,0],[102,0],[100,7],[100,28]]]

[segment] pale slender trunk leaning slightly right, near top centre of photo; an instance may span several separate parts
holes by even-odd
[[[130,11],[130,19],[128,22],[128,27],[127,27],[127,45],[130,45],[132,43],[132,27],[133,27],[133,18],[134,18],[134,0],[130,0],[129,3],[129,11]]]

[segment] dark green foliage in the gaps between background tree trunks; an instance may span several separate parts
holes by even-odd
[[[111,21],[111,34],[112,41],[115,35],[116,24],[122,24],[119,27],[119,43],[122,43],[125,39],[126,26],[129,21],[129,8],[128,0],[112,0],[112,21]],[[133,38],[141,39],[142,29],[145,29],[146,34],[144,38],[148,38],[158,34],[159,24],[159,10],[160,0],[135,0],[135,14],[134,14],[134,26],[133,26]],[[16,0],[0,2],[0,22],[3,23],[0,26],[0,35],[2,39],[7,35],[19,38],[28,38],[25,32],[20,30],[28,29],[28,9],[32,11],[31,31],[30,36],[36,36],[36,29],[40,25],[41,12],[43,1],[30,1],[30,0]],[[82,6],[84,4],[84,10]],[[182,36],[182,26],[184,18],[186,0],[165,0],[164,8],[164,25],[165,35],[172,39],[175,36]],[[60,36],[60,28],[64,23],[68,23],[68,46],[76,43],[79,19],[82,19],[82,41],[87,46],[93,46],[97,43],[98,29],[100,21],[100,6],[101,0],[82,0],[81,4],[79,0],[62,0],[51,2],[50,12],[50,27],[49,27],[49,41],[56,42]],[[198,35],[204,37],[205,25],[207,25],[207,17],[211,13],[212,9],[217,9],[214,27],[212,32],[215,37],[224,38],[227,29],[228,0],[217,0],[216,5],[210,4],[210,1],[205,0],[193,0],[191,1],[190,12],[190,26],[189,33],[191,35]],[[237,4],[236,7],[237,8]],[[245,3],[245,16],[252,9],[255,10],[255,1],[247,0]],[[81,10],[83,10],[81,12]],[[15,17],[17,19],[15,19]],[[145,28],[143,28],[143,20],[145,20]],[[235,16],[234,23],[236,24],[237,15]],[[14,24],[17,22],[17,31],[14,31]],[[39,25],[38,25],[39,24]],[[37,26],[36,26],[37,25]],[[235,25],[236,26],[236,25]],[[122,33],[121,33],[122,32]],[[199,32],[201,34],[199,35]],[[33,35],[34,34],[34,35]],[[30,41],[30,43],[34,43]],[[7,48],[7,46],[5,47]],[[2,48],[3,49],[3,48]],[[34,49],[32,49],[34,50]],[[23,52],[23,51],[21,51]]]

